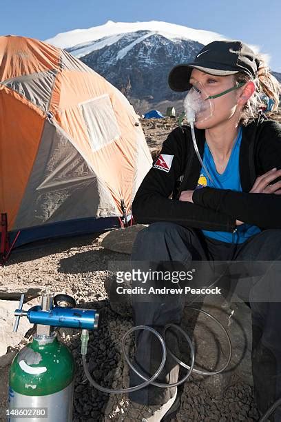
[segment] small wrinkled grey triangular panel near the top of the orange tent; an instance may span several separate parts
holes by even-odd
[[[31,101],[44,113],[48,112],[56,70],[28,74],[23,77],[8,79],[3,84]]]

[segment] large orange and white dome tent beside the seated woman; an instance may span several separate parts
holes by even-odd
[[[93,229],[114,225],[108,218],[123,215],[122,200],[130,213],[151,165],[138,117],[114,86],[64,50],[0,37],[0,212],[8,231],[28,241],[87,231],[89,221]]]

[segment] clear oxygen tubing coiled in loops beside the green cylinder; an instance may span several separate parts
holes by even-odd
[[[88,334],[87,330],[82,330],[82,335],[81,335],[81,341],[82,341],[81,354],[82,354],[83,370],[84,370],[85,375],[87,376],[87,379],[90,382],[90,384],[92,384],[97,390],[100,390],[101,392],[114,393],[114,394],[122,394],[122,393],[127,393],[127,392],[133,392],[133,391],[141,390],[141,388],[145,388],[149,384],[156,385],[157,387],[160,387],[160,388],[172,388],[172,387],[176,387],[176,386],[184,383],[185,381],[187,381],[187,379],[189,378],[189,376],[191,375],[192,372],[196,372],[196,374],[201,374],[201,375],[216,375],[216,374],[220,374],[220,372],[224,371],[227,368],[227,366],[229,365],[229,362],[231,361],[231,356],[232,356],[231,340],[230,340],[229,334],[227,333],[227,330],[225,330],[225,328],[220,323],[220,321],[218,321],[218,319],[216,319],[214,316],[212,316],[208,312],[206,312],[204,310],[201,310],[201,309],[193,308],[193,307],[186,307],[186,308],[190,308],[190,309],[196,310],[198,312],[202,312],[202,314],[205,314],[206,316],[209,316],[211,319],[213,319],[213,321],[215,321],[219,325],[219,327],[225,333],[225,335],[227,337],[227,343],[229,345],[229,357],[227,359],[227,363],[225,363],[225,365],[223,366],[223,368],[221,368],[218,371],[213,371],[213,372],[196,370],[196,368],[194,368],[194,362],[195,362],[194,346],[192,345],[191,339],[189,338],[188,334],[182,328],[180,328],[178,325],[175,325],[175,324],[167,324],[167,325],[165,325],[165,328],[164,328],[164,336],[165,336],[165,332],[169,328],[174,328],[174,329],[180,331],[181,334],[183,334],[183,336],[185,337],[185,339],[187,339],[187,342],[188,342],[189,348],[190,348],[190,353],[191,353],[191,365],[190,366],[187,365],[186,363],[184,363],[183,361],[180,361],[180,359],[178,359],[173,353],[171,353],[171,351],[169,350],[169,348],[167,348],[167,346],[165,345],[165,341],[163,340],[163,337],[156,330],[154,330],[154,328],[148,327],[147,325],[137,325],[136,327],[132,327],[129,330],[127,330],[127,332],[125,332],[125,334],[123,336],[123,339],[122,339],[122,351],[123,351],[123,354],[125,356],[125,360],[127,361],[128,365],[129,365],[129,368],[131,368],[136,374],[138,374],[138,376],[140,376],[142,379],[144,379],[145,382],[144,383],[141,383],[139,385],[135,385],[134,387],[121,388],[121,389],[118,389],[118,390],[112,389],[112,388],[105,388],[105,387],[99,385],[98,383],[96,383],[96,381],[94,381],[94,379],[92,378],[92,376],[91,376],[91,374],[90,374],[90,372],[89,372],[89,370],[87,368],[86,354],[87,354],[87,341],[89,339],[89,334]],[[161,347],[162,347],[162,350],[163,350],[162,361],[161,361],[161,363],[159,365],[159,368],[154,373],[154,375],[151,378],[149,378],[149,379],[147,379],[145,376],[143,376],[143,374],[141,374],[141,372],[138,372],[138,370],[136,368],[134,368],[134,365],[131,363],[131,361],[129,361],[129,356],[127,356],[127,353],[125,351],[125,339],[127,338],[127,335],[130,334],[131,332],[136,331],[136,330],[148,330],[148,331],[152,332],[153,334],[155,334],[157,336],[158,340],[160,341],[160,344],[161,344]],[[183,366],[183,368],[187,369],[188,372],[183,377],[183,379],[181,379],[180,381],[178,381],[176,383],[173,383],[173,384],[156,383],[156,382],[154,382],[154,380],[157,378],[157,376],[160,374],[160,372],[164,368],[165,361],[166,361],[166,356],[167,356],[167,351],[171,354],[172,357],[174,357],[174,359],[176,360],[176,362],[179,365]]]

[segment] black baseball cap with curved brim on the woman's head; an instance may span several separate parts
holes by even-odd
[[[189,90],[193,68],[216,76],[244,72],[255,79],[258,66],[256,54],[242,41],[213,41],[198,52],[192,63],[183,63],[171,70],[169,86],[174,91]]]

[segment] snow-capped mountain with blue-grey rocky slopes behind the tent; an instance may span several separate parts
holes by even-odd
[[[215,39],[226,37],[166,22],[108,21],[103,26],[57,34],[45,42],[81,59],[143,112],[148,103],[183,98],[169,89],[169,71],[178,63],[192,61],[203,45]]]

